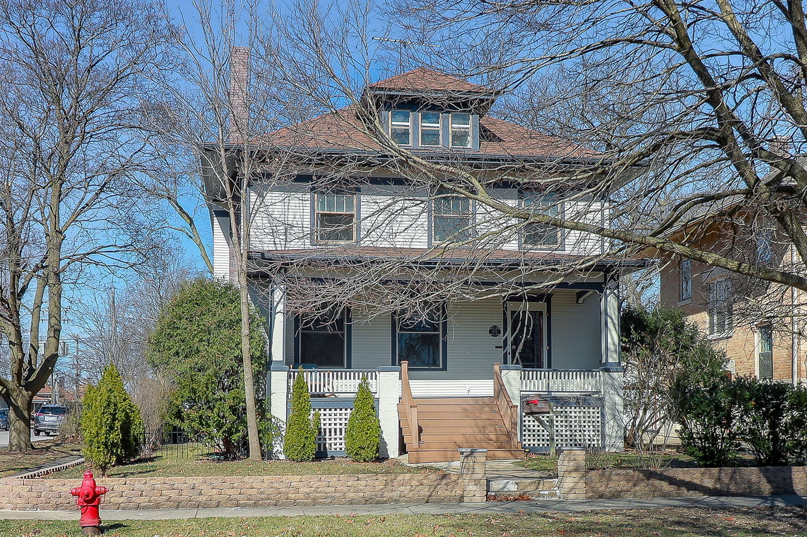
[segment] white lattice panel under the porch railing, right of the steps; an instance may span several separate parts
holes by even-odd
[[[525,448],[548,448],[550,434],[529,414],[522,414]],[[546,421],[546,417],[543,418]],[[599,406],[555,406],[555,446],[603,447],[603,423]]]

